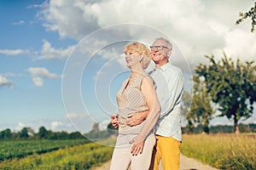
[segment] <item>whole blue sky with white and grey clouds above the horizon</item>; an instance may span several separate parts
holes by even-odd
[[[168,37],[186,89],[195,65],[207,62],[205,54],[255,60],[249,20],[235,25],[239,12],[252,5],[251,0],[0,0],[0,130],[44,126],[87,132],[93,122],[106,125],[117,109],[115,93],[129,76],[122,54],[127,42],[149,46],[156,37]],[[255,121],[254,113],[247,122]],[[212,121],[221,123],[231,122]]]

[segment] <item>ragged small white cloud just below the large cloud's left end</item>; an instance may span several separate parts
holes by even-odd
[[[51,44],[43,40],[44,44],[41,49],[41,55],[38,56],[38,59],[67,59],[68,55],[73,50],[74,46],[69,46],[64,49],[55,49],[51,47]]]

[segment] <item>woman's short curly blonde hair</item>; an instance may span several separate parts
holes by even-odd
[[[143,55],[143,69],[146,69],[151,61],[151,52],[143,43],[132,42],[125,45],[124,53],[127,54],[128,51],[136,52],[139,55]]]

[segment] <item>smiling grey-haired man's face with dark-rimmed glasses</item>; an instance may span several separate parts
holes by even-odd
[[[172,49],[167,48],[165,41],[157,40],[151,46],[151,54],[155,64],[168,62],[168,56],[172,54]]]

